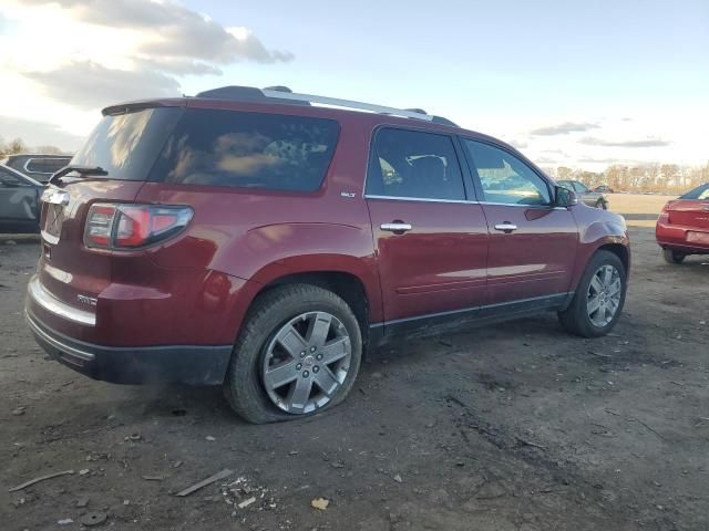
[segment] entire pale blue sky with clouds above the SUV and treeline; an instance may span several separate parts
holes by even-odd
[[[0,136],[224,85],[421,107],[544,167],[709,162],[709,0],[0,0]]]

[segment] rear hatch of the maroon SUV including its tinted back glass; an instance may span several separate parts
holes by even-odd
[[[104,175],[71,171],[44,192],[38,273],[44,291],[61,302],[90,310],[95,298],[125,267],[110,251],[84,246],[86,214],[97,201],[134,201],[177,123],[182,100],[162,106],[110,110],[70,166],[102,168]],[[140,256],[140,251],[129,253]],[[89,303],[86,302],[89,301]]]

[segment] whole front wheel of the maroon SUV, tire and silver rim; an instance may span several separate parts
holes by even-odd
[[[558,312],[562,325],[583,337],[599,337],[613,330],[625,303],[627,274],[620,259],[597,251],[578,282],[569,306]]]

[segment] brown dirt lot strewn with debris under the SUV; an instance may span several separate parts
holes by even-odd
[[[21,313],[38,250],[0,244],[0,528],[105,513],[121,530],[708,529],[709,259],[671,267],[651,228],[631,237],[613,335],[571,337],[548,314],[402,344],[342,406],[269,426],[218,389],[114,386],[47,360]]]

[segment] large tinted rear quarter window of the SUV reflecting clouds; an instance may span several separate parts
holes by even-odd
[[[312,191],[322,183],[338,133],[331,119],[187,110],[151,180]]]

